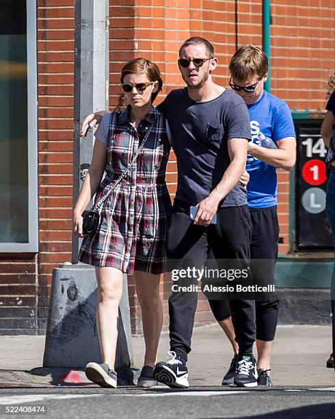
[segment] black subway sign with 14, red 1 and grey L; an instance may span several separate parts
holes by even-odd
[[[325,214],[325,157],[320,135],[322,120],[295,124],[297,164],[295,167],[295,250],[329,251],[332,232]]]

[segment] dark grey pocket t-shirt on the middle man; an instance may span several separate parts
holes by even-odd
[[[190,99],[183,88],[172,90],[158,108],[169,123],[177,158],[176,199],[195,205],[209,196],[228,168],[228,140],[251,140],[247,106],[230,90],[201,102]],[[237,183],[219,207],[240,205],[247,205],[247,193]]]

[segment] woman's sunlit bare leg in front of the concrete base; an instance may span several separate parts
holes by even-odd
[[[98,282],[96,324],[101,357],[103,362],[113,370],[118,340],[118,309],[122,296],[123,273],[116,268],[96,268],[96,281]]]

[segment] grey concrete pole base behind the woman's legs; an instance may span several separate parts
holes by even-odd
[[[44,367],[85,368],[101,362],[96,328],[97,285],[95,270],[85,264],[62,264],[53,270]],[[119,309],[116,369],[133,364],[131,319],[126,275]]]

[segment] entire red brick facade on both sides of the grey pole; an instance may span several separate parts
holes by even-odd
[[[334,69],[332,3],[271,1],[271,92],[291,110],[325,107],[325,79]],[[37,0],[37,5],[39,253],[0,255],[0,333],[5,334],[43,331],[52,270],[70,260],[74,1]],[[213,42],[219,59],[214,80],[223,86],[236,48],[245,42],[262,44],[262,2],[257,0],[110,0],[109,16],[111,109],[118,103],[119,73],[126,60],[142,55],[157,62],[166,94],[183,86],[177,51],[189,36]],[[278,176],[280,253],[288,253],[289,175],[280,171]],[[167,183],[173,197],[173,153]],[[129,293],[133,332],[139,333],[140,310],[131,279]],[[201,301],[196,324],[211,319]]]

